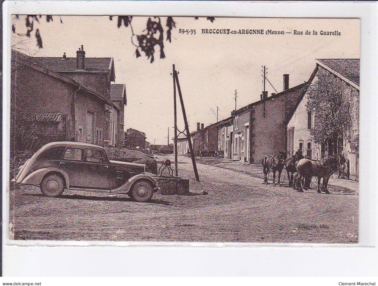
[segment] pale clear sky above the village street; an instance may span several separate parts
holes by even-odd
[[[262,66],[266,78],[280,92],[283,74],[289,74],[289,87],[306,82],[316,63],[315,59],[359,58],[360,24],[358,19],[284,19],[217,17],[214,22],[194,17],[174,17],[172,42],[164,39],[165,58],[155,52],[155,61],[143,53],[135,57],[132,32],[129,27],[117,28],[117,19],[108,16],[53,16],[53,21],[34,23],[39,28],[43,48],[36,46],[35,37],[12,36],[12,45],[36,56],[76,57],[84,45],[86,57],[113,57],[115,83],[125,83],[127,106],[125,129],[146,133],[152,144],[167,144],[167,128],[172,143],[173,80],[172,64],[179,71],[179,80],[190,131],[196,123],[205,126],[225,119],[235,109],[260,99]],[[146,28],[148,17],[133,17],[135,34]],[[161,17],[164,30],[166,17]],[[17,32],[25,32],[25,19],[14,19]],[[195,35],[181,34],[179,29],[195,29]],[[206,34],[202,29],[264,29],[284,31],[285,34]],[[303,34],[294,34],[294,30]],[[306,35],[306,31],[311,35]],[[313,31],[317,35],[313,35]],[[338,31],[340,36],[320,35],[320,31]],[[291,34],[290,34],[291,32]],[[164,35],[165,36],[165,35]],[[268,82],[268,94],[276,92]],[[178,129],[184,129],[178,105]]]

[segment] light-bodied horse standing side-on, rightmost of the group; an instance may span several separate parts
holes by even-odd
[[[296,180],[297,192],[303,192],[301,186],[301,179],[308,177],[318,177],[318,187],[316,191],[321,193],[321,190],[329,194],[327,184],[333,172],[336,172],[341,163],[342,155],[327,156],[320,160],[301,159],[297,164],[298,178]],[[323,178],[323,186],[320,189],[320,181]]]

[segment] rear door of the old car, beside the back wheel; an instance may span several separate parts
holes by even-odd
[[[59,167],[67,174],[70,186],[82,187],[84,165],[84,149],[77,147],[65,148]]]

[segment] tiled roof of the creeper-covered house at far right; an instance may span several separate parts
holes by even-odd
[[[318,59],[318,61],[359,85],[359,59]]]

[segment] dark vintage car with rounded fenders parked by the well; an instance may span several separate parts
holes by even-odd
[[[39,186],[50,197],[65,189],[127,194],[149,201],[159,187],[144,164],[109,160],[105,148],[78,142],[52,142],[40,148],[12,180]]]

